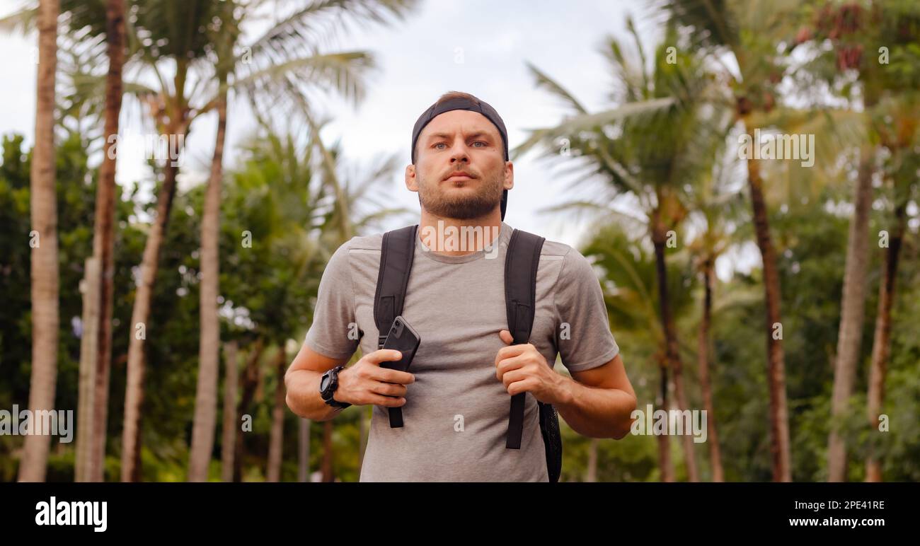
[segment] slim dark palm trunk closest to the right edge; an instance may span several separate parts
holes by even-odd
[[[879,313],[875,319],[875,338],[872,342],[872,364],[868,374],[868,422],[871,430],[878,430],[881,404],[885,399],[885,375],[891,351],[891,307],[894,304],[894,287],[898,278],[898,257],[904,236],[904,205],[894,211],[895,227],[885,252],[884,274],[879,283]],[[866,460],[866,481],[881,482],[881,461],[870,451]]]

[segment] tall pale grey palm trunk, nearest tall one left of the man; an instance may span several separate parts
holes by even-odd
[[[201,338],[199,341],[198,389],[195,394],[195,419],[191,432],[189,481],[206,482],[208,465],[214,447],[214,425],[217,422],[217,378],[221,324],[217,315],[217,295],[220,291],[218,259],[221,216],[221,178],[224,176],[224,133],[227,121],[227,92],[225,77],[217,99],[217,139],[211,161],[211,179],[204,196],[201,218]]]

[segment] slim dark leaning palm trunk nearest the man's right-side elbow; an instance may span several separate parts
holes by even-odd
[[[664,332],[665,355],[668,366],[674,374],[674,394],[677,397],[677,407],[682,412],[687,409],[686,393],[684,392],[684,370],[677,345],[677,331],[671,313],[671,301],[668,296],[668,277],[664,262],[664,244],[667,233],[661,222],[653,220],[652,243],[655,245],[655,271],[658,278],[658,300],[661,307],[661,329]],[[663,408],[667,411],[667,408]],[[699,482],[696,472],[696,456],[693,450],[693,438],[689,434],[681,436],[681,446],[684,449],[684,460],[687,466],[687,479],[690,482]]]

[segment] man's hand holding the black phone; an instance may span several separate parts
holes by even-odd
[[[399,358],[402,354],[394,349],[378,349],[364,355],[354,365],[339,371],[339,387],[332,398],[352,405],[406,404],[406,385],[415,382],[415,376],[408,371],[380,367],[381,362]]]

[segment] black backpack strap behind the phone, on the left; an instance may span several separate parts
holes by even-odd
[[[384,348],[386,334],[393,321],[402,314],[406,301],[408,276],[415,256],[415,237],[418,224],[408,225],[384,233],[380,245],[380,271],[377,273],[377,290],[374,292],[374,323],[377,324],[377,348]],[[389,407],[390,427],[403,426],[402,408]]]

